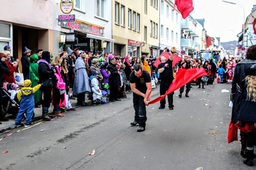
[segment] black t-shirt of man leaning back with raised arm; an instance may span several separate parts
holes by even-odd
[[[169,64],[169,67],[166,67],[162,73],[159,74],[159,78],[164,82],[172,82],[173,81],[173,61],[168,59],[166,62],[158,65],[157,70],[164,67],[165,64]]]

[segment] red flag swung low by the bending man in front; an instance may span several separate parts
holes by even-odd
[[[191,82],[192,80],[206,75],[206,71],[204,68],[195,67],[193,69],[179,69],[176,75],[176,79],[174,79],[173,83],[170,85],[166,93],[158,98],[148,102],[148,104],[156,103],[162,100],[166,95],[172,93],[173,91],[177,90],[178,88],[184,86],[185,84]]]

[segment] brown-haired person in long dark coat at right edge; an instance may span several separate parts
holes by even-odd
[[[246,51],[246,57],[237,63],[234,70],[234,76],[231,87],[231,101],[233,102],[232,107],[232,119],[231,123],[234,125],[237,123],[237,117],[241,106],[241,82],[245,79],[244,72],[253,64],[256,63],[256,45],[250,46]],[[247,153],[247,133],[240,130],[241,136],[241,155],[246,158]]]

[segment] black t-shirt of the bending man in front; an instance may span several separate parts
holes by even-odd
[[[130,74],[130,83],[135,83],[136,84],[136,89],[140,90],[142,93],[146,93],[147,91],[147,86],[146,83],[151,83],[151,77],[150,74],[143,70],[142,75],[140,77],[137,77],[134,74],[134,71]]]

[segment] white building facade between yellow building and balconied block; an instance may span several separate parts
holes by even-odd
[[[160,54],[164,52],[163,48],[176,47],[180,51],[180,12],[175,8],[170,0],[161,0],[160,2]]]

